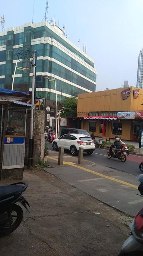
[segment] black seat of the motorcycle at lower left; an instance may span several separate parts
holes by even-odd
[[[11,196],[14,196],[16,192],[20,192],[23,186],[20,185],[7,185],[0,186],[0,201]]]

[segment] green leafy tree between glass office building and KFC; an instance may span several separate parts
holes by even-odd
[[[66,99],[66,101],[63,104],[64,113],[62,113],[63,118],[67,117],[76,117],[77,112],[77,99],[76,97],[71,97]]]

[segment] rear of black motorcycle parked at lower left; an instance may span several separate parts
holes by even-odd
[[[27,189],[26,182],[13,183],[0,187],[0,237],[9,235],[18,228],[23,219],[23,210],[17,205],[20,202],[27,211],[28,202],[22,193]]]

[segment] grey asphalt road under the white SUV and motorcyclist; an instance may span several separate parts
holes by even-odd
[[[47,145],[49,150],[53,150],[51,143],[48,142]],[[65,153],[70,154],[69,151],[65,151]],[[127,156],[127,161],[122,163],[120,160],[115,158],[108,159],[106,154],[107,150],[96,148],[91,156],[88,156],[86,153],[84,153],[84,159],[95,162],[98,165],[106,166],[122,172],[127,172],[135,176],[142,174],[139,169],[139,164],[143,161],[143,157],[130,154]]]

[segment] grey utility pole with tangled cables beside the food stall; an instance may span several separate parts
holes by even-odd
[[[35,63],[36,63],[36,51],[34,51],[33,56],[33,77],[32,77],[32,95],[31,95],[31,104],[34,105],[34,95],[35,95]],[[31,118],[30,118],[30,139],[29,139],[29,166],[33,166],[33,146],[34,146],[34,107],[31,107]]]

